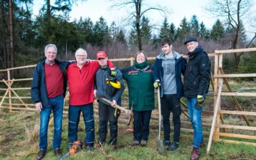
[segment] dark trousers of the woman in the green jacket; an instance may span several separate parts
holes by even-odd
[[[149,134],[150,111],[133,111],[133,140],[147,141]]]

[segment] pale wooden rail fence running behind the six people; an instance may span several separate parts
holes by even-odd
[[[238,100],[236,99],[237,96],[250,96],[250,97],[256,97],[256,93],[253,92],[243,92],[243,93],[237,93],[232,92],[232,89],[230,88],[230,85],[228,83],[228,77],[256,77],[256,74],[225,74],[222,68],[223,63],[223,55],[227,53],[233,53],[233,52],[251,52],[256,51],[256,48],[250,48],[250,49],[234,49],[234,50],[225,50],[225,51],[215,51],[212,54],[208,54],[209,57],[214,58],[214,74],[211,78],[211,84],[212,84],[212,98],[213,98],[213,104],[214,106],[209,105],[209,108],[206,108],[206,111],[202,112],[202,122],[203,122],[203,134],[205,136],[209,136],[209,143],[207,146],[207,153],[211,149],[211,143],[212,140],[214,141],[223,141],[225,143],[244,143],[244,144],[250,144],[256,146],[256,136],[255,135],[248,135],[243,134],[243,132],[240,132],[239,134],[234,133],[237,130],[248,130],[248,131],[256,131],[255,126],[251,126],[250,120],[246,116],[256,116],[256,112],[248,112],[243,111],[242,107],[240,106]],[[154,57],[149,57],[148,60],[155,60]],[[130,61],[131,65],[133,65],[134,58],[121,58],[121,59],[111,59],[111,61]],[[7,79],[3,79],[0,81],[0,86],[5,86],[3,88],[0,88],[0,108],[1,109],[8,109],[10,112],[17,112],[17,111],[37,111],[35,109],[35,104],[30,100],[30,87],[23,87],[23,88],[15,88],[13,87],[13,83],[15,82],[26,82],[32,80],[31,77],[23,78],[23,79],[14,79],[11,77],[11,71],[12,70],[20,70],[20,69],[31,69],[31,72],[33,72],[33,68],[35,68],[36,65],[29,65],[24,67],[15,67],[15,68],[8,68],[6,70],[0,70],[1,72],[7,73]],[[228,92],[223,92],[223,83],[226,85]],[[26,84],[26,83],[24,83]],[[27,83],[28,84],[28,83]],[[256,86],[256,85],[255,85]],[[127,89],[125,89],[125,92],[127,92]],[[13,96],[14,95],[14,96]],[[22,95],[22,96],[19,96]],[[123,94],[124,95],[124,94]],[[126,94],[127,95],[127,94]],[[211,96],[211,94],[209,95]],[[237,111],[228,111],[228,110],[222,110],[221,109],[221,97],[222,96],[231,96],[232,100],[234,100],[234,104],[236,105]],[[69,97],[69,93],[67,92],[65,97],[65,104],[67,104],[67,100]],[[127,98],[127,97],[126,97]],[[181,116],[181,123],[182,123],[182,132],[189,132],[189,134],[193,133],[193,129],[191,127],[191,122],[188,118],[188,108],[186,106],[186,103],[183,101],[180,101],[182,104],[182,116]],[[95,117],[97,118],[97,102],[94,103],[94,110],[95,110]],[[128,108],[128,103],[123,103],[124,108]],[[212,111],[212,108],[214,111]],[[63,113],[68,113],[68,106],[64,105],[64,111]],[[244,120],[244,125],[228,125],[224,124],[224,118],[223,115],[241,115]],[[120,118],[118,119],[118,123],[121,125],[128,122],[129,116],[122,114]],[[239,118],[239,117],[238,117]],[[154,109],[152,112],[152,120],[150,121],[150,129],[157,130],[157,120],[158,120],[158,111],[157,109]],[[239,119],[238,119],[239,121]],[[171,129],[173,129],[173,126],[171,126]],[[232,130],[233,132],[229,132]],[[209,132],[211,131],[211,132]],[[188,135],[187,136],[191,136]],[[224,137],[224,138],[223,138]],[[235,138],[236,140],[227,140],[227,138]],[[252,142],[245,142],[241,139],[245,140],[253,140]]]

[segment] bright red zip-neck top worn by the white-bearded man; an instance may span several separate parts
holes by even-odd
[[[115,68],[108,60],[109,68]],[[67,68],[68,91],[70,93],[69,104],[80,106],[93,102],[93,85],[95,73],[99,69],[98,61],[87,62],[80,69],[76,62]]]

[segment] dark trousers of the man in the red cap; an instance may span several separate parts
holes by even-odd
[[[108,121],[109,121],[109,130],[110,130],[109,144],[116,145],[117,132],[118,132],[117,120],[118,120],[118,117],[115,117],[115,108],[99,101],[99,142],[100,143],[106,143],[106,137],[108,134]]]

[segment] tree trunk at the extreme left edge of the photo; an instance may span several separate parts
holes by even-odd
[[[5,17],[4,17],[4,0],[1,1],[1,28],[3,31],[3,68],[6,68],[6,44],[5,44]]]

